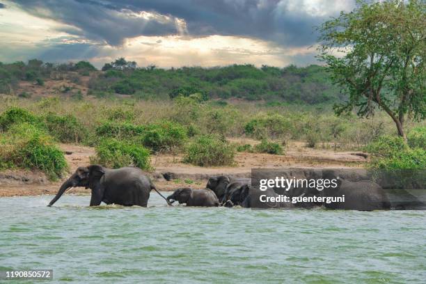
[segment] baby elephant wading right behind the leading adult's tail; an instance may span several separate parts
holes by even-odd
[[[187,203],[187,206],[219,206],[219,200],[211,189],[190,189],[188,187],[182,187],[176,189],[170,196],[167,196],[167,200],[170,203],[178,200],[179,204]]]

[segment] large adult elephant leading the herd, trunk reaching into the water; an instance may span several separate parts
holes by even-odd
[[[58,194],[50,201],[48,206],[54,205],[65,190],[70,187],[90,188],[92,190],[90,206],[97,206],[104,202],[107,204],[146,207],[148,198],[150,198],[150,191],[152,189],[157,191],[154,184],[143,174],[140,168],[109,169],[99,165],[80,166],[62,184]],[[157,193],[166,200],[159,191]]]

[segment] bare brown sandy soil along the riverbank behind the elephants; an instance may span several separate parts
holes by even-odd
[[[239,143],[257,143],[251,139],[232,139]],[[78,166],[90,164],[89,157],[95,154],[93,148],[81,145],[61,144],[65,158],[70,165],[70,173]],[[211,175],[234,175],[249,177],[251,168],[358,168],[365,163],[363,153],[334,152],[306,148],[304,143],[292,142],[287,145],[285,155],[258,153],[238,153],[235,166],[203,168],[182,163],[181,156],[156,155],[151,163],[155,171],[150,173],[157,189],[171,191],[178,187],[204,188]],[[167,181],[164,173],[170,173],[172,180]],[[66,177],[63,179],[65,180]],[[0,196],[33,196],[56,194],[63,182],[49,182],[39,171],[3,171],[0,172]],[[73,188],[72,194],[90,194],[90,189]]]

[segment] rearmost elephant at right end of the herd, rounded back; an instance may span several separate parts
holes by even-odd
[[[335,179],[338,175],[333,171],[323,171],[323,179]],[[370,180],[359,180],[352,182],[345,178],[337,179],[338,186],[336,188],[326,188],[321,195],[325,197],[338,197],[345,195],[343,203],[324,203],[329,209],[344,210],[389,210],[390,201],[384,189],[379,184]]]

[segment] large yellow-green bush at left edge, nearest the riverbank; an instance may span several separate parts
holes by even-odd
[[[15,124],[1,138],[0,164],[39,169],[49,180],[61,178],[68,168],[52,137],[29,123]]]

